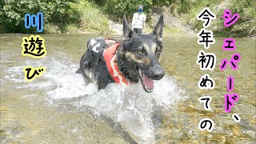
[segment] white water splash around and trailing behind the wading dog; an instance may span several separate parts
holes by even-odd
[[[54,100],[81,97],[79,104],[74,104],[90,106],[95,115],[104,115],[120,123],[138,142],[154,142],[154,124],[151,119],[154,107],[168,109],[168,106],[178,102],[182,92],[168,76],[154,82],[152,93],[146,93],[141,83],[129,86],[110,83],[106,89],[98,91],[95,84],[86,85],[82,75],[75,74],[78,64],[63,56],[58,61],[44,58],[26,61],[25,64],[46,66],[46,73],[33,82],[25,82],[22,66],[10,67],[7,70],[10,74],[6,78],[18,83],[15,88],[40,90]]]

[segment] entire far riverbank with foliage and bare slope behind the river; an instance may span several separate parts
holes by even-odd
[[[17,2],[16,2],[17,1]],[[55,2],[56,1],[56,2]],[[146,34],[154,29],[160,14],[164,14],[164,34],[196,35],[202,29],[202,22],[196,15],[204,8],[217,15],[209,30],[219,37],[256,37],[256,3],[253,0],[187,0],[187,1],[142,1],[146,14]],[[116,5],[118,4],[118,5]],[[113,7],[114,6],[114,7]],[[32,8],[34,9],[32,9]],[[36,33],[35,28],[26,29],[24,14],[44,14],[46,34],[122,34],[122,15],[131,21],[137,10],[137,3],[94,0],[74,0],[65,2],[8,1],[0,2],[0,33]],[[223,26],[223,10],[230,9],[240,18],[234,26]],[[121,14],[122,11],[122,14]]]

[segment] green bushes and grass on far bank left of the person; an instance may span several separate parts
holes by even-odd
[[[36,33],[26,29],[25,14],[44,14],[45,33],[66,33],[81,30],[108,32],[107,18],[90,2],[78,0],[4,0],[0,2],[0,32]]]

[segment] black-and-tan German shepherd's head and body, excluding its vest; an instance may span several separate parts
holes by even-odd
[[[126,81],[129,83],[140,81],[146,92],[152,92],[154,80],[160,80],[165,75],[162,66],[158,62],[162,52],[163,25],[163,15],[161,14],[151,34],[135,34],[128,25],[126,16],[123,16],[122,42],[120,42],[115,52],[115,62]],[[94,47],[91,45],[91,40],[89,40],[77,73],[82,73],[86,82],[96,81],[98,90],[101,90],[106,88],[110,82],[116,81],[111,76],[110,70],[108,70],[106,62],[102,58],[102,53],[95,56],[91,54],[92,49]]]

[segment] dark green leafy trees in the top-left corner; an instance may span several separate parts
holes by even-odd
[[[3,0],[0,2],[0,25],[7,33],[33,33],[36,28],[27,30],[24,26],[25,14],[37,14],[41,11],[44,14],[44,22],[62,26],[76,22],[70,14],[70,2],[74,0]]]

